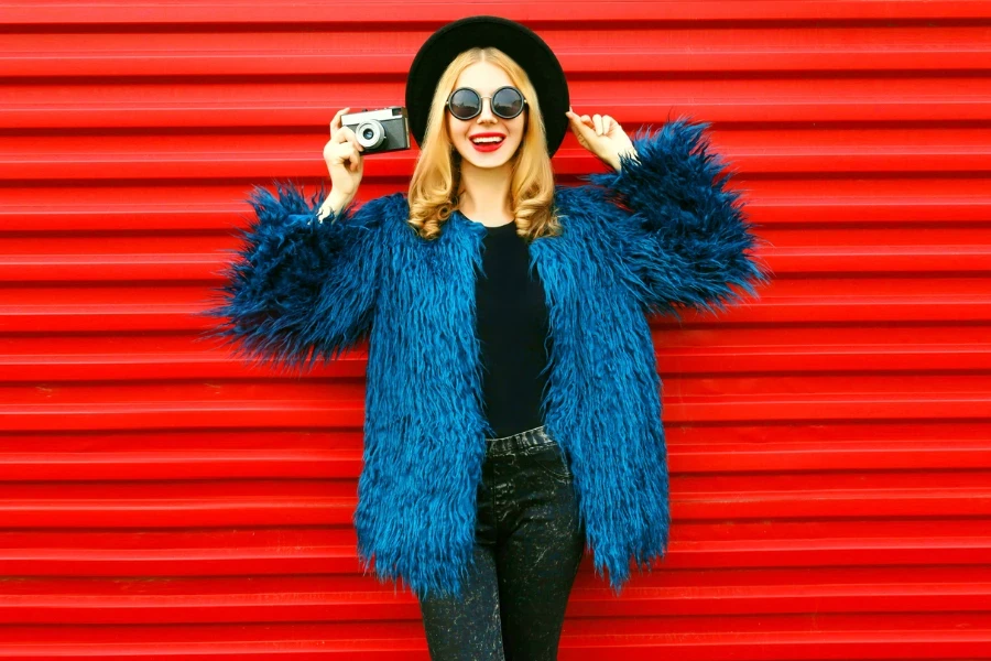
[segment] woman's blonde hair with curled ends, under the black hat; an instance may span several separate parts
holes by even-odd
[[[437,83],[420,158],[410,180],[409,223],[422,238],[433,240],[440,236],[450,214],[461,208],[461,154],[451,143],[446,104],[458,76],[477,62],[489,62],[501,67],[523,93],[530,108],[524,110],[523,140],[513,155],[510,184],[516,234],[527,241],[543,236],[558,236],[560,223],[554,209],[554,172],[536,90],[526,72],[509,55],[493,47],[465,51],[454,58]]]

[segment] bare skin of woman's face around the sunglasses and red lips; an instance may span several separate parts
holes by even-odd
[[[454,88],[470,87],[480,96],[491,97],[497,89],[507,85],[515,87],[504,71],[488,62],[477,62],[461,72]],[[462,167],[469,164],[479,169],[505,165],[523,141],[527,112],[530,110],[524,107],[523,112],[513,119],[503,119],[492,112],[491,98],[483,98],[481,113],[468,120],[458,119],[449,110],[445,110],[451,143],[464,159]],[[486,151],[480,151],[470,139],[482,133],[497,133],[504,136],[504,139],[498,149],[493,150],[491,144],[486,144],[481,145]]]

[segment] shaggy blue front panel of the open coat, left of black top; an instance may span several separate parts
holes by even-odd
[[[359,557],[421,594],[458,592],[486,451],[475,328],[484,229],[455,218],[426,241],[405,218],[390,223],[369,343]]]

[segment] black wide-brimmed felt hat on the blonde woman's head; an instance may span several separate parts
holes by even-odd
[[[406,78],[406,113],[416,144],[423,144],[431,101],[440,75],[451,61],[473,47],[494,46],[530,76],[547,131],[547,153],[554,155],[568,130],[568,83],[554,52],[529,28],[500,17],[468,17],[437,30],[420,47]]]

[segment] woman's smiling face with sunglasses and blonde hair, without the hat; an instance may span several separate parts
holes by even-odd
[[[482,225],[515,223],[531,240],[557,235],[552,152],[529,73],[491,46],[468,47],[437,69],[424,99],[431,112],[410,180],[410,224],[435,239],[459,209]]]

